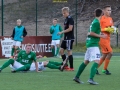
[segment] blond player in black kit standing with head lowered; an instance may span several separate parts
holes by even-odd
[[[74,20],[69,14],[68,7],[62,8],[62,14],[65,18],[65,21],[64,21],[64,30],[58,33],[58,34],[64,33],[64,40],[62,41],[62,44],[61,44],[60,54],[64,61],[66,59],[66,55],[64,54],[64,51],[67,50],[70,68],[66,66],[65,69],[68,71],[74,71],[73,55],[72,55],[72,48],[73,48],[73,42],[74,42]]]

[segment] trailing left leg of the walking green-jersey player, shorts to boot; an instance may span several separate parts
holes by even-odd
[[[79,78],[82,74],[82,72],[84,71],[85,67],[89,64],[89,49],[87,49],[86,53],[85,53],[85,57],[84,57],[84,62],[82,62],[78,68],[78,71],[75,75],[75,77],[73,78],[73,80],[77,83],[83,83]]]

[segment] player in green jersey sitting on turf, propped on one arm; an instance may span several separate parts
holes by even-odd
[[[25,49],[26,50],[21,50],[18,53],[17,60],[9,59],[7,62],[5,62],[0,67],[0,72],[9,65],[12,65],[15,68],[15,70],[12,71],[13,73],[18,71],[28,71],[33,61],[35,63],[36,72],[39,72],[38,64],[36,61],[36,54],[31,51],[32,49],[31,44],[27,44]]]

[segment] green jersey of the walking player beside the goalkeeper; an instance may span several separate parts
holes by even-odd
[[[89,28],[88,32],[94,32],[96,34],[100,34],[101,28],[100,28],[100,22],[97,18],[95,18]],[[94,37],[94,36],[87,36],[86,39],[86,47],[99,47],[99,41],[100,38],[99,37]]]

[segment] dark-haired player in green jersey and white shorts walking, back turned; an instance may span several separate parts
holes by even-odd
[[[93,80],[95,74],[96,74],[96,69],[99,65],[99,60],[100,60],[100,50],[99,50],[99,41],[100,38],[106,38],[106,35],[100,34],[100,18],[102,15],[102,10],[101,9],[96,9],[95,10],[95,19],[92,21],[87,39],[86,39],[86,47],[87,51],[85,53],[85,58],[84,62],[79,66],[78,72],[76,76],[73,78],[73,80],[77,83],[83,83],[79,77],[82,74],[83,70],[85,67],[89,64],[89,62],[94,61],[91,71],[90,71],[90,77],[88,80],[88,83],[96,85],[98,84]]]

